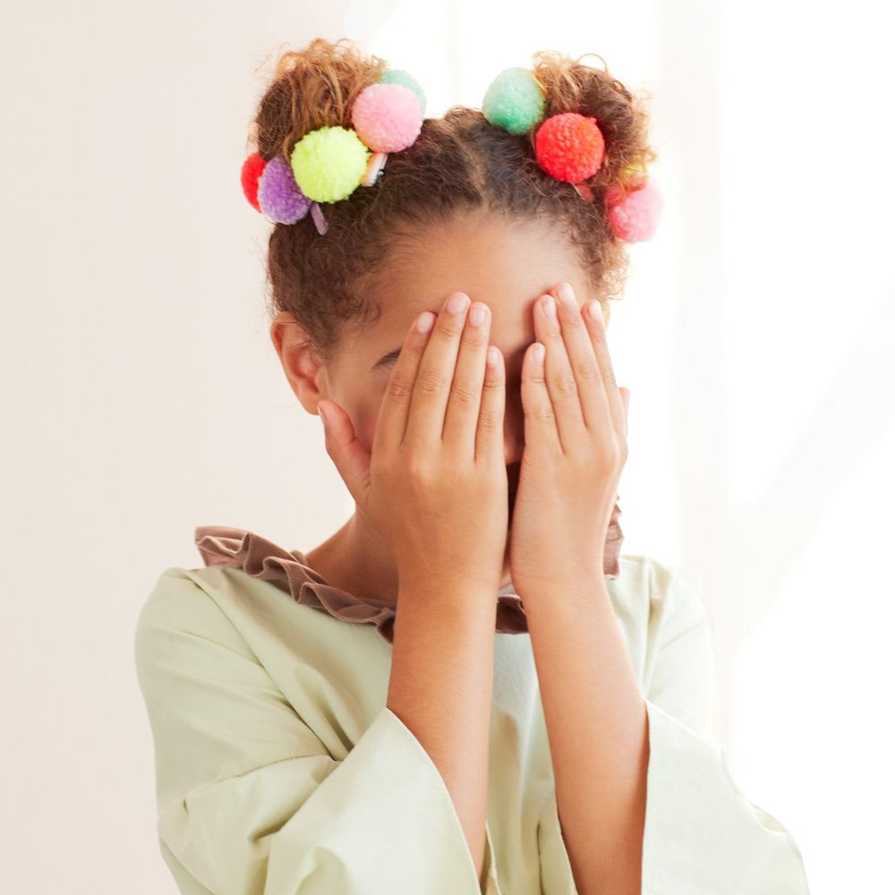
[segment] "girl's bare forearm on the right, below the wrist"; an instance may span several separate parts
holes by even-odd
[[[575,887],[639,895],[649,720],[603,575],[521,596]]]

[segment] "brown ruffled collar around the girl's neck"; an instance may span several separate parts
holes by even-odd
[[[618,575],[618,553],[624,539],[618,516],[618,503],[612,511],[604,548],[603,572],[610,578]],[[327,584],[322,575],[309,565],[301,550],[284,550],[260,534],[227,525],[200,525],[196,528],[196,546],[206,566],[230,566],[246,575],[269,581],[292,599],[328,612],[333,618],[354,625],[375,625],[389,644],[394,642],[396,606],[371,598],[357,597]],[[528,622],[522,598],[508,582],[498,591],[498,634],[524,634]]]

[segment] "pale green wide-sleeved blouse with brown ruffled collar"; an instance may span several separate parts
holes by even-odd
[[[577,895],[512,588],[480,881],[438,768],[386,705],[393,609],[325,584],[297,550],[260,556],[268,541],[216,531],[234,537],[204,539],[207,567],[166,569],[135,631],[158,845],[180,891]],[[796,842],[740,791],[713,736],[695,573],[623,554],[606,584],[649,717],[644,895],[805,895]]]

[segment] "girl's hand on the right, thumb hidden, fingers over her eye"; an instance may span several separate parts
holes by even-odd
[[[522,368],[525,447],[510,525],[509,567],[525,600],[557,582],[601,581],[603,548],[618,480],[627,460],[630,392],[618,388],[606,330],[566,283],[558,317],[535,302],[534,330]],[[585,303],[586,304],[586,303]],[[599,303],[596,303],[599,309]],[[536,353],[545,354],[542,362]]]

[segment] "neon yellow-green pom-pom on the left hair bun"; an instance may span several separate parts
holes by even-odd
[[[290,161],[295,183],[308,199],[337,202],[360,185],[370,155],[353,130],[324,125],[295,144]]]

